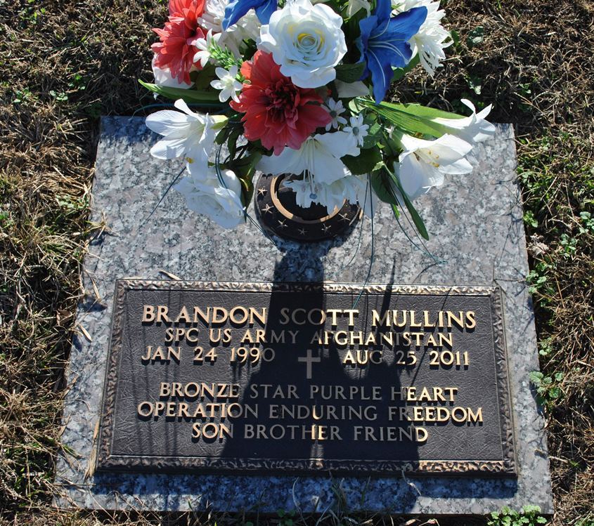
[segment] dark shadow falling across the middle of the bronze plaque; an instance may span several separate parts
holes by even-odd
[[[382,386],[382,390],[389,386],[399,391],[401,368],[383,361],[344,364],[346,350],[354,349],[356,357],[358,346],[339,347],[332,341],[327,345],[318,343],[319,338],[324,338],[324,331],[332,330],[331,319],[325,324],[299,325],[308,312],[313,311],[314,322],[318,322],[321,321],[319,310],[352,309],[357,301],[357,294],[324,296],[321,287],[315,284],[309,287],[301,283],[302,291],[287,290],[286,283],[298,282],[303,275],[312,282],[323,283],[323,251],[309,254],[307,257],[304,251],[288,249],[276,265],[265,337],[266,342],[278,340],[284,329],[285,341],[274,343],[274,360],[261,362],[249,376],[240,403],[255,402],[258,416],[233,422],[233,438],[226,438],[221,459],[237,461],[238,465],[250,459],[247,463],[252,468],[258,466],[258,474],[307,476],[320,478],[321,482],[328,478],[339,481],[355,477],[363,497],[363,488],[370,477],[402,476],[401,471],[387,468],[389,459],[404,463],[419,459],[414,439],[387,440],[385,428],[397,424],[390,422],[382,411],[386,398],[375,403],[370,400],[374,397],[373,386]],[[389,296],[387,292],[382,298],[382,308],[388,308]],[[361,298],[355,308],[361,308],[364,303]],[[370,313],[361,312],[360,316],[362,320],[370,320]],[[338,329],[348,331],[348,318],[337,317],[337,320]],[[356,324],[354,329],[366,333],[370,330],[366,323],[362,327]],[[296,330],[299,332],[294,341],[289,331]],[[392,433],[394,439],[401,432],[396,429]],[[405,428],[401,436],[406,433],[414,431]],[[374,473],[375,468],[379,473]],[[401,513],[406,513],[415,504],[417,489],[414,484],[405,484],[394,491],[394,497],[396,493]],[[403,502],[406,509],[401,508]]]

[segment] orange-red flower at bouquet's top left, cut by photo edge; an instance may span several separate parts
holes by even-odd
[[[169,68],[172,77],[190,84],[192,66],[201,69],[200,63],[194,63],[198,51],[193,41],[205,38],[206,34],[198,27],[198,18],[204,13],[205,0],[171,0],[169,2],[169,21],[163,29],[153,29],[159,35],[160,42],[151,48],[155,52],[155,65],[162,69]]]

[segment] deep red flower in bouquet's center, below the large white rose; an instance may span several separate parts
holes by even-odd
[[[243,63],[241,74],[251,84],[243,85],[239,103],[229,105],[245,113],[245,138],[260,139],[275,155],[285,146],[298,150],[310,133],[332,120],[318,93],[295,86],[271,54],[257,51],[251,62]]]

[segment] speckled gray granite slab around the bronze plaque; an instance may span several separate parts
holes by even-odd
[[[340,487],[351,511],[482,514],[505,504],[537,504],[552,513],[543,418],[529,386],[538,355],[510,126],[497,126],[496,137],[478,148],[472,174],[450,176],[443,188],[418,199],[431,254],[407,239],[389,206],[380,206],[373,223],[364,219],[347,239],[311,246],[271,241],[251,224],[224,230],[188,211],[176,192],[148,218],[182,167],[152,159],[155,140],[141,118],[102,119],[92,220],[104,219],[106,228],[91,242],[84,264],[88,294],[77,317],[84,331],[72,346],[63,433],[64,445],[77,457],[58,460],[58,506],[262,513],[298,506],[323,512],[335,504]],[[408,225],[404,230],[413,236]],[[368,276],[368,282],[397,284],[497,284],[505,306],[517,479],[89,474],[115,280],[167,279],[163,272],[184,280],[361,283]]]

